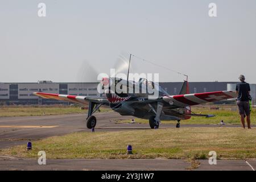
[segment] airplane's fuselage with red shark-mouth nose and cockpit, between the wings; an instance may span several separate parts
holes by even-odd
[[[154,113],[149,112],[150,107],[156,108],[156,103],[147,104],[152,99],[158,99],[169,94],[158,83],[141,78],[138,82],[122,80],[120,78],[104,78],[106,98],[110,102],[110,108],[121,115],[133,115],[138,118],[148,119]],[[168,103],[167,106],[170,106]],[[180,114],[184,110],[180,109]],[[168,109],[168,115],[162,115],[161,120],[176,120],[170,117],[180,116],[179,109]]]

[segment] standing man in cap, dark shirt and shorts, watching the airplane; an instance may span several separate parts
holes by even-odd
[[[238,106],[243,128],[245,128],[245,116],[246,116],[247,126],[248,126],[248,129],[250,129],[251,128],[250,104],[249,104],[250,85],[245,82],[245,76],[243,75],[240,75],[239,80],[240,82],[236,86],[236,91],[238,94],[237,106]]]

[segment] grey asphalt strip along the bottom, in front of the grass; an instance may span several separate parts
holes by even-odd
[[[46,165],[39,165],[36,159],[3,158],[0,156],[0,170],[163,170],[163,171],[254,171],[256,160],[217,160],[210,165],[208,160],[199,160],[197,168],[182,159],[48,159]]]

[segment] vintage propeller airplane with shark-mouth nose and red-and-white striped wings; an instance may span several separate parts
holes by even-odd
[[[120,115],[132,115],[137,118],[148,119],[151,129],[158,129],[160,121],[177,121],[176,127],[180,127],[180,121],[190,119],[194,116],[214,117],[210,114],[195,114],[191,111],[191,106],[205,104],[236,98],[233,91],[218,91],[205,93],[189,93],[188,80],[183,82],[179,94],[171,96],[158,83],[140,78],[139,81],[128,81],[122,78],[103,77],[100,86],[104,90],[106,97],[93,98],[87,96],[73,96],[65,94],[52,94],[35,92],[36,96],[75,102],[79,104],[89,104],[86,126],[92,129],[96,126],[97,119],[93,115],[102,105],[109,106]],[[119,90],[110,89],[111,85],[119,86]],[[148,88],[154,88],[158,96],[148,93]],[[139,90],[139,92],[129,93],[128,89]],[[126,90],[126,92],[125,92]],[[143,92],[142,92],[143,91]],[[151,96],[151,97],[150,97]]]

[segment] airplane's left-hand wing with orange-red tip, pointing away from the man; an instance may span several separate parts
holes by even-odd
[[[109,101],[106,98],[93,98],[93,97],[86,97],[86,96],[72,96],[72,95],[43,93],[43,92],[34,92],[33,94],[42,98],[76,102],[79,104],[88,104],[88,102],[95,102],[97,104],[109,104]]]

